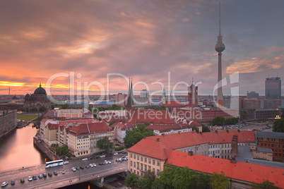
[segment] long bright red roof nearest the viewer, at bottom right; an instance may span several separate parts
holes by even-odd
[[[263,181],[270,181],[276,186],[283,188],[284,186],[284,169],[275,168],[271,166],[262,166],[257,164],[248,164],[237,161],[232,164],[228,159],[219,159],[214,157],[206,157],[197,154],[189,156],[186,152],[179,152],[172,150],[166,164],[173,166],[188,166],[194,171],[201,171],[205,173],[213,173],[223,171],[225,176],[234,178],[240,181],[262,183]]]

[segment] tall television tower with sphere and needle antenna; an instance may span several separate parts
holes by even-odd
[[[221,35],[221,3],[219,2],[219,35],[217,44],[215,45],[215,51],[218,51],[218,90],[217,90],[217,102],[218,106],[223,106],[223,92],[222,92],[222,51],[225,50],[225,44]]]

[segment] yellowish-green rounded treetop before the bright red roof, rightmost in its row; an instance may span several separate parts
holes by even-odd
[[[213,189],[225,189],[230,185],[229,177],[223,171],[220,174],[213,172],[210,180]]]

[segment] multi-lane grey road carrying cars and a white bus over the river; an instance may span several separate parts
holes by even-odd
[[[114,158],[117,159],[119,157],[122,157],[122,155]],[[0,182],[8,182],[8,185],[6,185],[5,188],[60,188],[65,185],[82,183],[95,178],[102,178],[104,176],[111,175],[114,172],[118,173],[126,171],[128,161],[116,162],[114,161],[114,158],[100,158],[87,161],[82,161],[81,159],[71,159],[69,160],[69,164],[48,169],[45,169],[44,164],[40,164],[24,169],[4,171],[0,172]],[[112,164],[100,166],[99,162],[104,161],[105,159],[112,161]],[[80,169],[80,171],[76,170],[75,172],[71,171],[72,167],[76,168],[77,166],[86,166],[90,163],[95,163],[97,166],[90,167],[89,169]],[[62,170],[66,171],[66,173],[61,173]],[[54,171],[57,171],[57,176],[54,176]],[[43,173],[52,173],[52,176],[47,176],[47,178],[38,178],[38,175]],[[37,180],[28,181],[28,176],[33,175],[37,176]],[[21,178],[25,179],[25,183],[20,183]],[[11,185],[12,180],[16,182],[15,185]]]

